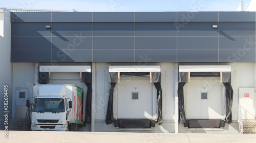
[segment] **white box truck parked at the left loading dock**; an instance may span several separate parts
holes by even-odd
[[[78,130],[84,103],[84,91],[73,84],[34,85],[31,130]]]

